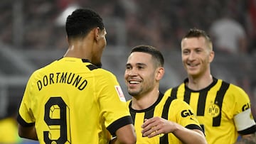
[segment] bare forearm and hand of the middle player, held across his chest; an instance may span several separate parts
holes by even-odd
[[[161,133],[174,133],[174,135],[186,144],[206,144],[206,138],[200,130],[190,130],[178,123],[167,121],[164,118],[154,117],[146,120],[142,125],[142,134],[149,138]]]

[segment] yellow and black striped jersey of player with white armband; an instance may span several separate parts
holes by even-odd
[[[165,96],[186,101],[195,112],[209,144],[231,144],[238,133],[256,131],[247,94],[234,84],[213,78],[205,89],[193,91],[186,87],[186,79],[178,87],[168,89]]]

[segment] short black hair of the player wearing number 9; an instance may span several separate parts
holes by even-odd
[[[65,23],[68,38],[83,38],[97,27],[100,30],[105,28],[100,15],[90,9],[76,9]]]

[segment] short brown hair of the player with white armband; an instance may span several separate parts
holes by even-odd
[[[186,35],[183,36],[182,40],[184,38],[200,38],[200,37],[205,38],[206,42],[209,45],[209,48],[211,50],[213,50],[213,42],[210,39],[210,36],[206,33],[206,31],[203,31],[203,30],[198,29],[198,28],[191,28],[191,29],[189,29],[188,33],[186,33]]]

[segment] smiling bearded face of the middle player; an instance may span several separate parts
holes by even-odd
[[[159,68],[152,56],[145,52],[132,52],[124,72],[124,81],[131,96],[142,96],[159,84]],[[161,79],[161,78],[160,78]]]

